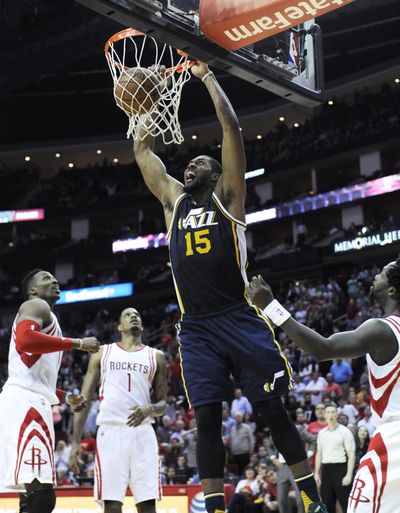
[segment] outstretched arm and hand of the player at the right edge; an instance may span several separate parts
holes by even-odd
[[[261,309],[274,300],[270,286],[261,276],[251,280],[247,291],[251,301]],[[296,345],[319,362],[339,357],[356,358],[371,353],[377,363],[383,364],[390,361],[398,350],[392,330],[378,319],[370,319],[354,331],[323,337],[293,317],[285,317],[287,319],[280,324],[283,331]]]

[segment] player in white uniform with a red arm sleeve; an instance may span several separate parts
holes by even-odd
[[[81,394],[56,389],[62,351],[96,352],[94,337],[63,338],[54,305],[60,287],[35,269],[22,281],[26,301],[12,327],[8,379],[0,394],[0,488],[21,493],[20,513],[50,513],[55,505],[54,425],[51,406],[65,400],[83,408]]]

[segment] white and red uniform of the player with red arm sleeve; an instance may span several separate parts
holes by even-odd
[[[8,354],[8,379],[0,394],[0,487],[23,491],[38,479],[55,483],[54,424],[62,352],[33,355],[17,351],[14,322]],[[61,337],[56,316],[42,333]]]

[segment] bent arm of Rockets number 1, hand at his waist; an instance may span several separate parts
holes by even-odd
[[[167,364],[164,353],[157,351],[157,371],[153,379],[151,404],[134,406],[128,417],[128,426],[139,426],[147,417],[161,417],[167,405]]]

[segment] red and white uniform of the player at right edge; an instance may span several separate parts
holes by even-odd
[[[360,461],[347,513],[400,511],[400,316],[381,320],[396,336],[398,351],[385,365],[377,365],[367,355],[372,421],[377,429]]]

